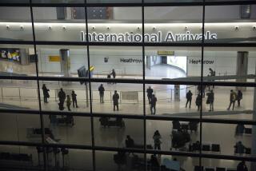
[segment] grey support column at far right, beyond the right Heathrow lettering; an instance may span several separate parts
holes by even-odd
[[[246,75],[248,70],[248,52],[239,51],[237,56],[237,71],[236,75]],[[246,82],[246,78],[237,78],[237,82]],[[246,87],[237,87],[237,89],[246,90]]]

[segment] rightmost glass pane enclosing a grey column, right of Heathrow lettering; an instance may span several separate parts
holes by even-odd
[[[250,48],[237,48],[236,50],[206,48],[203,79],[208,82],[254,82],[255,51],[251,51]],[[209,78],[209,76],[216,77]]]

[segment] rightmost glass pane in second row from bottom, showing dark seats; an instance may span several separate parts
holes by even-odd
[[[252,125],[203,123],[202,152],[250,156],[254,143],[251,133]]]

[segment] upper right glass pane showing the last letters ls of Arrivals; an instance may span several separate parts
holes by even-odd
[[[216,11],[222,11],[222,13]],[[240,16],[240,6],[206,6],[206,43],[255,42],[255,22],[250,20],[250,17],[245,21]],[[255,18],[255,15],[252,14],[251,17]],[[226,22],[214,22],[219,18]],[[208,39],[209,35],[212,38]]]

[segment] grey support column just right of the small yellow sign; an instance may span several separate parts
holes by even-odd
[[[70,50],[59,50],[59,56],[61,58],[61,74],[65,78],[71,77],[70,74]],[[66,82],[69,84],[69,82]]]

